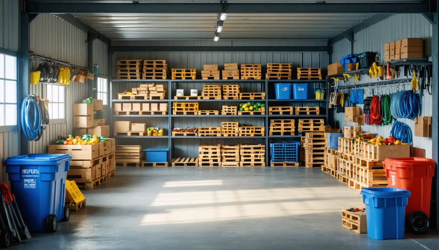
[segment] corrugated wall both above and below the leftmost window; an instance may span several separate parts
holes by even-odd
[[[20,8],[17,0],[0,1],[0,48],[19,51],[20,36]],[[20,133],[0,132],[0,179],[5,181],[6,169],[3,168],[3,161],[20,154]]]

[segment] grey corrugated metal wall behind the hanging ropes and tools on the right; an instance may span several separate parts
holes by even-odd
[[[405,37],[422,37],[425,40],[424,50],[426,55],[431,53],[431,37],[432,37],[432,25],[420,14],[399,14],[387,18],[369,28],[366,28],[356,34],[354,34],[354,53],[362,53],[365,51],[377,52],[379,61],[384,63],[384,43],[399,40]],[[334,54],[332,55],[333,62],[339,60],[341,56],[350,53],[350,42],[347,39],[343,39],[334,44]],[[400,78],[406,78],[402,76]],[[342,81],[339,81],[340,85],[344,85]],[[376,79],[369,78],[367,75],[362,75],[359,83],[376,82]],[[347,83],[352,84],[352,80]],[[390,87],[375,87],[374,93],[394,93],[399,90],[410,89],[409,83]],[[365,96],[370,96],[372,93],[370,90],[366,90]],[[347,90],[346,90],[347,92]],[[361,105],[360,105],[361,106]],[[432,116],[432,96],[426,94],[422,98],[422,113],[421,116]],[[344,121],[344,113],[335,113],[334,120],[341,127],[343,125],[354,125],[350,122]],[[399,121],[406,123],[412,128],[414,132],[414,122],[410,119],[398,119]],[[361,126],[366,132],[377,133],[382,136],[388,136],[390,134],[391,125],[377,126],[377,125],[363,125]],[[413,146],[425,149],[426,157],[431,158],[431,138],[414,137]]]

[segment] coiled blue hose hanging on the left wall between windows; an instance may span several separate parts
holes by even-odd
[[[21,130],[28,141],[40,140],[42,135],[42,132],[40,133],[42,118],[35,95],[28,95],[23,99],[21,103],[20,121]]]

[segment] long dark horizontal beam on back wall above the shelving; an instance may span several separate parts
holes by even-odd
[[[297,51],[297,52],[329,52],[328,46],[110,46],[109,52],[135,51],[227,51],[227,52],[256,52],[256,51]]]

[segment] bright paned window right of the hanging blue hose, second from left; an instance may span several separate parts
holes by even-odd
[[[47,84],[46,86],[50,119],[65,119],[65,88],[54,84]]]

